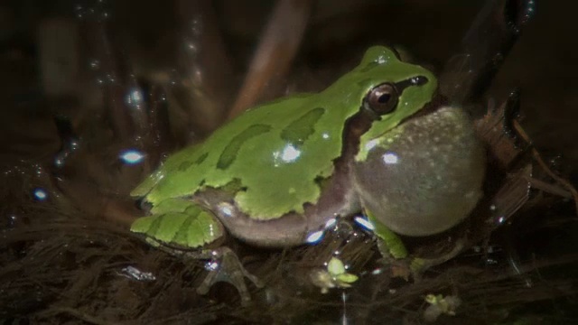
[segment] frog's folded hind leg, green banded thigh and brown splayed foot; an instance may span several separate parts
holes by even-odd
[[[251,298],[245,277],[262,287],[255,275],[249,274],[238,260],[238,256],[228,247],[202,248],[224,236],[223,226],[208,210],[190,200],[163,200],[151,209],[151,216],[138,218],[131,231],[146,236],[146,241],[170,255],[194,260],[212,260],[217,265],[210,268],[197,292],[205,294],[217,282],[233,284],[241,296],[243,304]]]

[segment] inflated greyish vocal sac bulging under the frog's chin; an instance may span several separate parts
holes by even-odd
[[[398,234],[429,236],[466,218],[482,195],[485,153],[469,116],[441,107],[385,136],[354,163],[363,206]]]

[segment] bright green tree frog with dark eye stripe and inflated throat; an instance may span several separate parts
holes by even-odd
[[[172,254],[236,265],[227,247],[207,247],[226,234],[300,246],[359,211],[400,235],[441,233],[480,200],[485,166],[469,116],[441,98],[432,71],[370,47],[328,88],[250,108],[169,156],[131,192],[149,208],[131,231]],[[248,302],[244,277],[263,285],[241,265],[210,271],[197,291],[228,281]]]

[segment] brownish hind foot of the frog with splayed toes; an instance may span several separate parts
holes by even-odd
[[[247,272],[245,267],[238,260],[235,254],[228,247],[219,247],[214,250],[205,251],[210,255],[208,264],[209,274],[197,288],[197,293],[206,294],[210,287],[218,282],[226,282],[234,285],[241,296],[241,303],[246,306],[251,301],[251,295],[247,290],[245,278],[249,279],[257,288],[265,286],[255,275]]]

